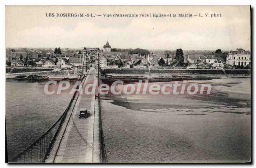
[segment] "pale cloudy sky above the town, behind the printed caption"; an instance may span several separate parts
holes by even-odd
[[[11,48],[103,47],[108,40],[111,48],[250,50],[250,6],[6,6],[5,13],[6,47]],[[49,13],[55,16],[46,17]],[[57,13],[101,16],[57,17]],[[124,18],[104,13],[193,16]],[[211,17],[213,13],[222,17]]]

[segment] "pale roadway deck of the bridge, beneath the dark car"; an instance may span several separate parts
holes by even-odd
[[[87,83],[92,83],[94,80],[96,80],[95,69],[90,69],[84,82],[84,86]],[[78,115],[80,108],[90,110],[90,115],[88,118],[79,118]],[[59,144],[54,144],[59,145],[59,149],[54,157],[55,163],[100,162],[100,155],[98,155],[98,153],[100,154],[99,145],[97,144],[99,142],[95,144],[95,149],[93,149],[93,143],[95,143],[94,134],[98,136],[98,123],[97,119],[95,122],[94,110],[95,95],[80,94],[72,115],[70,118],[66,118],[69,119],[69,121],[64,133],[62,135],[58,135],[62,136],[61,141]],[[95,131],[94,127],[96,128]],[[62,126],[61,129],[64,128],[65,126]],[[98,137],[95,139],[98,139]],[[94,151],[97,152],[95,153]]]

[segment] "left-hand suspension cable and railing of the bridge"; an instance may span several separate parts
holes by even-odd
[[[67,113],[73,104],[76,94],[78,93],[74,93],[70,100],[70,103],[68,104],[68,107],[60,116],[60,118],[53,124],[53,126],[27,149],[14,157],[11,160],[11,163],[43,163],[45,161],[46,156],[48,155],[52,144],[54,143],[54,140],[58,135],[58,132],[60,131],[60,128],[67,116]]]

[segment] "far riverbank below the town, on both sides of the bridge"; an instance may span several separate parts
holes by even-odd
[[[101,80],[113,81],[138,81],[149,80],[150,82],[173,81],[173,80],[212,80],[222,78],[251,78],[250,70],[164,70],[164,69],[102,69]],[[108,72],[108,73],[107,73]],[[150,72],[150,73],[149,73]],[[23,73],[6,73],[6,79],[14,80],[78,80],[80,69],[52,70]]]

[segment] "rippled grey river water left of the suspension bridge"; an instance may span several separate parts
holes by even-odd
[[[6,134],[8,159],[43,135],[65,111],[72,95],[44,94],[45,82],[6,80]]]

